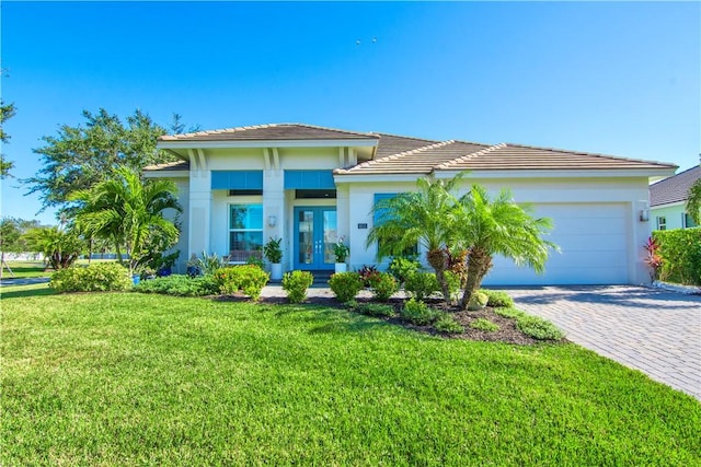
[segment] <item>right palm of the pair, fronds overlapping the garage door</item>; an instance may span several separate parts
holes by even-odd
[[[460,207],[456,219],[457,238],[469,250],[467,283],[460,302],[463,310],[492,268],[494,255],[542,272],[550,249],[558,250],[555,244],[542,237],[552,229],[551,220],[535,219],[530,207],[514,202],[507,189],[491,201],[484,187],[473,185],[470,192],[460,198]]]

